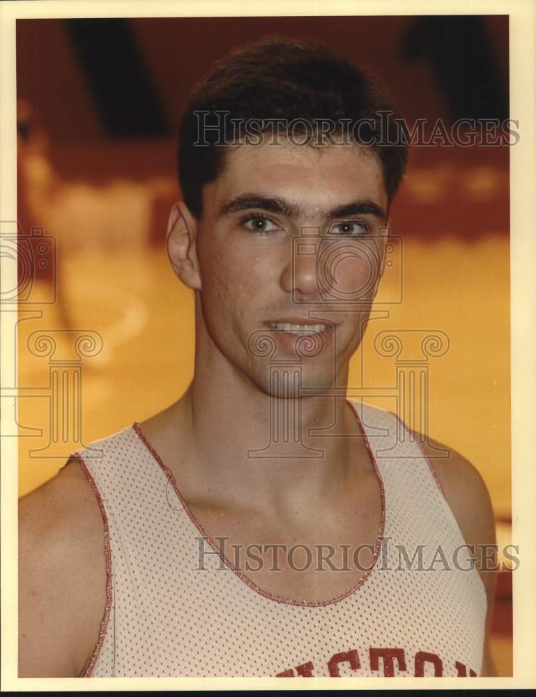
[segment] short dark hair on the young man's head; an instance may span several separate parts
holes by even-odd
[[[226,116],[221,115],[224,112]],[[275,36],[236,50],[201,79],[181,116],[177,164],[185,204],[195,217],[201,217],[203,187],[220,175],[227,149],[223,144],[236,138],[236,123],[267,119],[307,122],[313,130],[321,119],[335,121],[337,129],[345,122],[374,122],[364,123],[361,138],[354,135],[352,141],[363,144],[365,135],[378,154],[390,204],[404,176],[407,146],[392,144],[392,121],[387,119],[386,126],[378,112],[390,112],[395,121],[400,118],[372,72],[323,45]],[[204,125],[211,128],[204,130],[200,141],[201,114]],[[210,123],[208,116],[214,115],[217,118]]]

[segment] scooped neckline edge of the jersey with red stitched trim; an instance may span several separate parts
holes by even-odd
[[[274,593],[270,593],[267,590],[263,590],[259,585],[254,583],[250,578],[245,576],[243,572],[240,571],[240,569],[237,569],[229,559],[224,555],[224,553],[221,551],[220,547],[218,547],[213,539],[206,533],[206,530],[204,527],[201,525],[199,520],[197,519],[197,516],[194,515],[192,510],[190,510],[190,506],[186,503],[185,498],[181,494],[181,491],[179,491],[174,474],[171,472],[171,470],[164,465],[164,462],[162,461],[162,458],[158,454],[158,452],[155,450],[153,445],[148,441],[148,438],[146,438],[145,434],[143,431],[141,431],[141,427],[139,425],[139,422],[135,421],[132,424],[132,429],[135,431],[135,434],[139,437],[140,441],[144,443],[145,447],[147,448],[148,452],[151,453],[153,456],[153,459],[158,463],[160,468],[162,469],[164,475],[166,475],[167,479],[169,480],[169,483],[171,484],[171,487],[173,487],[176,496],[178,500],[181,502],[181,505],[183,509],[185,510],[187,516],[190,518],[194,526],[199,530],[199,533],[204,537],[206,542],[210,545],[210,547],[217,553],[217,556],[220,557],[224,565],[226,565],[238,578],[240,581],[243,581],[246,585],[248,585],[252,590],[254,590],[256,593],[259,595],[266,597],[270,600],[273,600],[275,602],[281,603],[281,604],[286,604],[286,605],[294,605],[294,606],[303,606],[303,607],[319,607],[319,606],[325,606],[325,605],[332,605],[337,602],[341,602],[342,600],[346,599],[347,597],[353,595],[357,590],[359,590],[362,585],[365,584],[365,582],[369,579],[369,577],[372,575],[374,570],[376,569],[378,565],[378,559],[380,556],[380,550],[381,550],[381,542],[383,539],[383,534],[385,532],[385,489],[383,486],[383,479],[381,477],[381,472],[378,468],[378,464],[376,463],[376,458],[374,457],[374,453],[372,452],[372,448],[370,447],[369,443],[369,438],[367,436],[367,433],[365,429],[363,428],[362,422],[359,418],[358,412],[355,409],[355,405],[353,402],[346,398],[346,402],[349,404],[351,407],[355,418],[358,422],[358,426],[360,428],[362,438],[365,441],[365,447],[367,448],[367,452],[369,454],[370,461],[372,463],[372,466],[374,467],[374,472],[376,473],[376,477],[378,477],[378,483],[380,485],[380,493],[381,493],[381,520],[380,520],[380,530],[378,532],[378,535],[376,536],[376,544],[374,547],[374,563],[371,565],[369,569],[367,569],[367,572],[365,573],[364,576],[362,576],[361,579],[357,583],[355,583],[349,590],[346,590],[344,593],[341,593],[337,595],[336,597],[333,598],[328,598],[325,600],[298,600],[294,598],[289,598],[285,597],[282,595],[275,595]]]

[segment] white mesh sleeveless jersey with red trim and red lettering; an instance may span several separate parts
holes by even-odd
[[[75,453],[107,568],[84,677],[480,675],[486,592],[464,570],[470,553],[431,462],[394,414],[348,401],[381,485],[381,528],[371,569],[322,602],[271,595],[223,555],[205,554],[200,571],[199,540],[219,548],[137,422]]]

